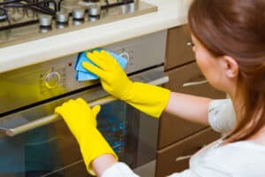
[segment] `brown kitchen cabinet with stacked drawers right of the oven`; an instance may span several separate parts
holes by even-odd
[[[186,45],[187,42],[191,42],[187,26],[168,30],[165,71],[170,81],[164,87],[195,96],[224,98],[223,92],[212,88],[205,81],[194,60],[192,48]],[[188,159],[178,163],[174,160],[193,154],[218,137],[210,127],[163,112],[159,123],[155,176],[161,177],[185,170],[188,168]]]

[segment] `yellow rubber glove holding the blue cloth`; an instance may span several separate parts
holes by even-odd
[[[133,105],[141,112],[159,118],[170,99],[170,90],[162,87],[131,81],[124,70],[105,50],[87,52],[95,65],[83,62],[82,65],[95,73],[102,82],[102,88],[110,95]]]

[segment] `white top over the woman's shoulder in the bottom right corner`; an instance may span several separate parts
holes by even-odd
[[[191,159],[190,168],[170,177],[264,177],[265,147],[251,142],[212,142]]]

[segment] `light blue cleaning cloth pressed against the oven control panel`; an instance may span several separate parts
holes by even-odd
[[[101,49],[95,49],[95,50],[101,50]],[[92,52],[93,50],[89,50],[89,52]],[[125,66],[127,64],[127,60],[119,55],[117,55],[116,53],[107,50],[107,52],[113,57],[116,58],[117,63],[123,68],[125,69]],[[89,71],[87,71],[82,63],[86,61],[88,63],[90,63],[91,65],[95,65],[89,58],[87,58],[87,51],[83,51],[81,53],[79,53],[79,56],[76,60],[76,63],[74,65],[74,69],[76,70],[76,81],[92,81],[92,80],[96,80],[98,79],[98,76],[96,76],[94,73],[91,73]]]

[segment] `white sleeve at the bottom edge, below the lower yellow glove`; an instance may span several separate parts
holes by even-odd
[[[102,177],[139,177],[130,169],[128,165],[123,162],[118,162],[111,165],[110,168],[102,173]]]

